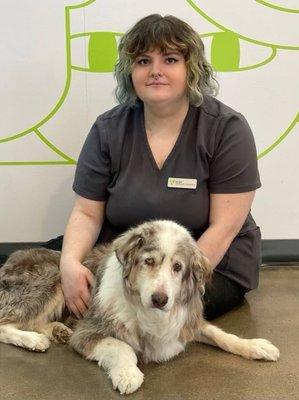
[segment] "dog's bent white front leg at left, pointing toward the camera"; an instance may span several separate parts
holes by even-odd
[[[127,343],[107,337],[96,343],[88,359],[98,361],[120,394],[135,392],[142,382],[143,373],[137,367],[137,356]]]

